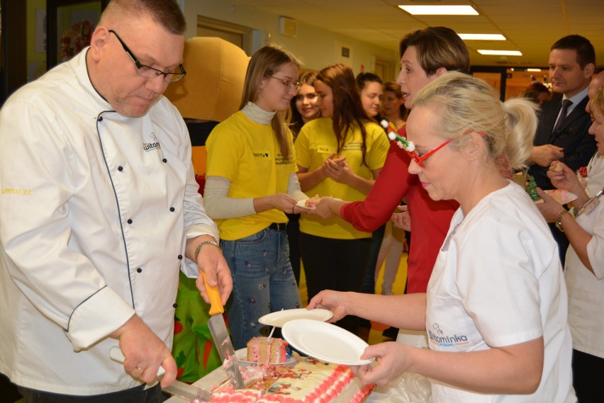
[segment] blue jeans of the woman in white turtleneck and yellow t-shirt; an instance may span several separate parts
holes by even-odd
[[[233,276],[228,322],[235,349],[262,336],[259,317],[300,308],[298,284],[289,262],[285,231],[263,229],[236,241],[220,241]]]

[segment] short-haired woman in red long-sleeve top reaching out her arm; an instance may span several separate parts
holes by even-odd
[[[406,93],[406,108],[411,108],[413,96],[437,76],[452,70],[469,72],[466,45],[449,28],[428,27],[409,33],[399,47],[401,73],[396,82]],[[398,134],[406,137],[404,126]],[[384,168],[365,200],[347,203],[322,198],[316,213],[322,217],[339,215],[356,229],[372,232],[388,221],[396,206],[406,198],[413,226],[407,263],[407,293],[425,293],[451,217],[459,205],[454,200],[432,200],[418,176],[408,173],[409,163],[407,152],[398,147],[396,141],[391,142]]]

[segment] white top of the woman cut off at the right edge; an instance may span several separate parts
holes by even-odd
[[[586,192],[590,197],[604,187],[604,157],[596,155],[588,166]],[[566,287],[569,289],[569,325],[573,348],[604,358],[604,198],[589,214],[576,218],[592,234],[587,254],[595,275],[583,265],[576,251],[566,251]]]

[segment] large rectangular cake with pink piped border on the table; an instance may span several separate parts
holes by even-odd
[[[296,365],[247,365],[245,390],[225,382],[213,390],[211,402],[358,403],[374,385],[362,386],[348,365],[304,358]],[[255,399],[255,400],[254,400]]]

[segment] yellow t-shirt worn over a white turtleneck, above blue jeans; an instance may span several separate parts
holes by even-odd
[[[289,176],[298,171],[289,133],[291,155],[284,160],[271,125],[261,125],[238,111],[218,124],[206,142],[207,176],[230,181],[228,197],[257,198],[286,193]],[[287,222],[284,212],[271,209],[245,217],[216,220],[220,238],[249,237],[272,222]]]

